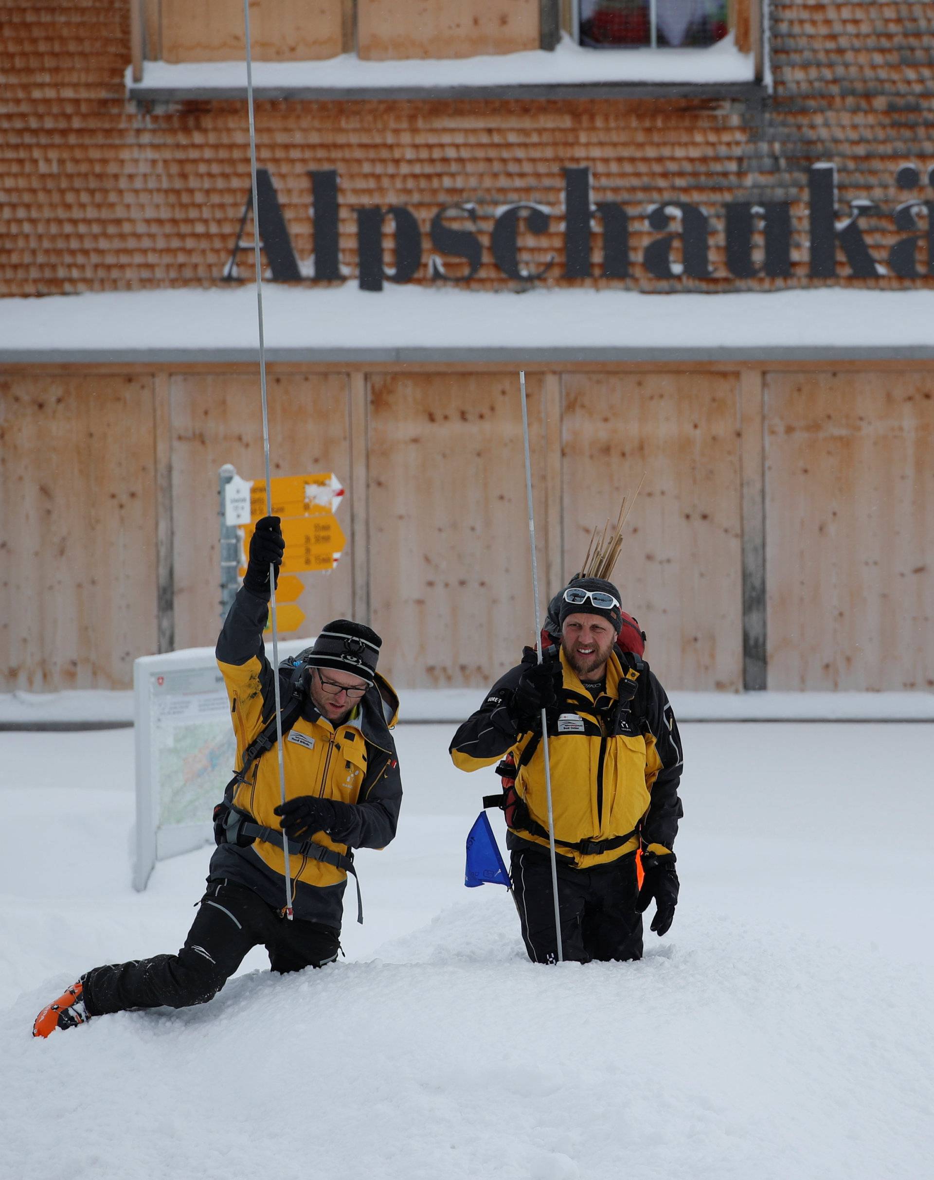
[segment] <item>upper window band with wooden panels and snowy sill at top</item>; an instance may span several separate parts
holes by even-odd
[[[128,2],[131,97],[242,93],[243,0]],[[589,86],[752,85],[764,76],[764,4],[250,0],[254,88],[267,98],[396,98],[461,87],[465,97],[496,90],[547,98],[557,94],[551,87],[569,94]],[[642,52],[619,52],[627,48]]]

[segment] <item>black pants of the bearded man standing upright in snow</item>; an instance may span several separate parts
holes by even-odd
[[[516,848],[511,858],[512,892],[522,938],[533,963],[557,961],[551,858],[547,850]],[[608,865],[575,868],[557,861],[561,944],[566,959],[638,959],[642,957],[642,914],[635,853]]]

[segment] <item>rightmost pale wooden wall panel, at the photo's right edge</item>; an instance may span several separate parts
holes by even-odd
[[[769,687],[934,688],[934,375],[766,374]]]

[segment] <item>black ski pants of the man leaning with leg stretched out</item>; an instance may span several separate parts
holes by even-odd
[[[84,1001],[90,1016],[205,1004],[254,946],[266,946],[273,971],[285,975],[333,963],[339,935],[316,922],[288,922],[246,885],[210,878],[177,955],[94,968],[81,976]]]

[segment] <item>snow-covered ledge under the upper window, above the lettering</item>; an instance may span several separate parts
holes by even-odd
[[[594,51],[563,35],[553,51],[496,57],[363,61],[353,53],[324,61],[254,61],[253,87],[266,99],[752,97],[760,90],[756,54],[742,53],[732,33],[706,48]],[[138,101],[243,98],[242,61],[170,65],[144,61],[126,70]]]

